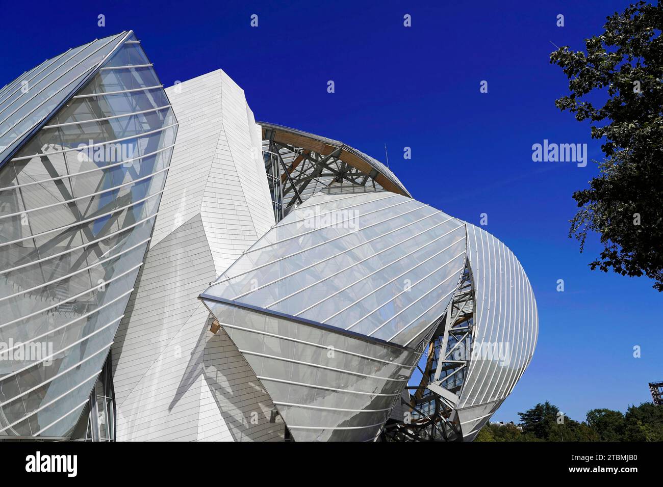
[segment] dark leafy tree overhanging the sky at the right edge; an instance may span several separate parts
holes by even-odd
[[[599,233],[592,270],[646,274],[663,291],[663,7],[640,1],[603,28],[585,40],[587,52],[564,46],[550,54],[569,80],[570,95],[556,106],[589,121],[605,155],[600,175],[573,193],[579,210],[569,237],[583,252],[588,231]]]

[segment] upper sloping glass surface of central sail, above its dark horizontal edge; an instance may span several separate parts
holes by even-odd
[[[205,294],[414,346],[465,265],[465,224],[387,191],[317,193]]]

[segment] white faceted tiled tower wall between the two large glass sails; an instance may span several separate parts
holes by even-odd
[[[196,299],[274,224],[260,128],[221,70],[167,92],[181,129],[113,348],[117,438],[282,441],[269,396]]]

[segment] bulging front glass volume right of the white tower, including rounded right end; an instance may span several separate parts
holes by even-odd
[[[410,423],[387,437],[471,439],[532,357],[526,276],[485,231],[356,188],[306,199],[201,298],[294,439],[369,441],[401,401]]]

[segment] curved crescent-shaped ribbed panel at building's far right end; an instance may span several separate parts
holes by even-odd
[[[476,331],[459,408],[503,400],[532,360],[538,314],[532,287],[514,254],[486,231],[467,223]]]

